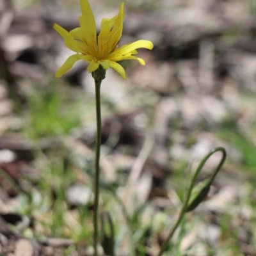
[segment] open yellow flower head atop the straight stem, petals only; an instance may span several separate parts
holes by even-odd
[[[56,77],[61,77],[77,60],[89,62],[88,72],[93,72],[101,65],[105,70],[109,67],[116,70],[126,79],[124,68],[117,63],[121,60],[138,60],[141,65],[145,61],[133,56],[138,53],[136,49],[152,49],[153,44],[148,40],[138,40],[118,48],[122,36],[124,21],[124,3],[121,4],[118,15],[112,19],[102,19],[100,33],[97,36],[96,24],[88,0],[80,0],[82,16],[79,17],[80,28],[75,28],[69,33],[58,24],[54,29],[64,38],[65,45],[76,54],[70,56],[57,70]]]

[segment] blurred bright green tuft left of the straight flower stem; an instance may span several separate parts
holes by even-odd
[[[30,138],[68,134],[79,126],[77,103],[67,103],[68,99],[65,97],[65,90],[61,90],[56,81],[52,81],[51,86],[46,88],[37,88],[31,94],[28,99],[29,118],[25,124],[25,131]]]

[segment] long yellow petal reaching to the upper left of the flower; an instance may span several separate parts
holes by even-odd
[[[83,52],[83,44],[76,41],[70,33],[58,24],[54,24],[53,28],[64,38],[65,45],[74,52]]]

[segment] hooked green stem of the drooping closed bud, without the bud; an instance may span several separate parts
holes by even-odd
[[[168,234],[168,237],[164,241],[164,244],[161,246],[161,250],[157,254],[157,256],[161,256],[163,254],[163,252],[166,250],[166,247],[168,246],[168,243],[169,243],[170,239],[172,239],[172,236],[173,236],[175,230],[177,229],[177,227],[179,227],[180,221],[182,221],[182,218],[183,218],[184,214],[186,213],[186,209],[188,207],[189,198],[190,198],[192,189],[193,189],[193,187],[195,185],[195,181],[196,181],[196,178],[197,178],[198,174],[201,172],[202,168],[204,167],[204,164],[209,159],[209,157],[211,157],[212,154],[214,154],[214,153],[216,153],[218,151],[222,152],[221,161],[218,164],[218,166],[217,166],[216,170],[214,171],[214,173],[212,174],[211,179],[209,179],[209,185],[212,183],[212,181],[216,177],[217,173],[220,171],[220,168],[221,168],[222,164],[224,163],[224,161],[226,159],[226,156],[227,156],[226,150],[223,147],[218,147],[218,148],[212,149],[211,152],[209,152],[209,154],[207,154],[207,156],[205,156],[204,159],[200,162],[198,168],[196,169],[195,174],[193,175],[193,177],[192,177],[192,179],[190,181],[189,188],[188,188],[186,196],[185,196],[185,202],[184,202],[182,208],[180,209],[179,217],[178,217],[175,225],[173,226],[172,230],[170,230],[170,233]]]

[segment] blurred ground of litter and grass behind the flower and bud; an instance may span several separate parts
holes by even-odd
[[[100,207],[116,255],[156,255],[191,173],[220,146],[227,161],[166,255],[256,255],[256,1],[124,2],[119,45],[154,49],[139,50],[145,67],[122,61],[127,81],[108,70],[101,86]],[[90,1],[98,28],[120,3]],[[0,0],[3,255],[92,252],[93,79],[84,61],[54,78],[72,52],[52,26],[70,31],[80,15],[78,0]]]

